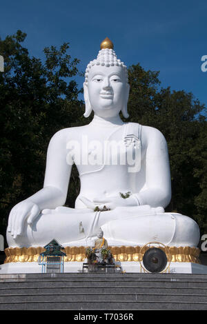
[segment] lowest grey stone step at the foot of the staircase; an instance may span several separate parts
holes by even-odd
[[[204,302],[177,301],[41,301],[1,303],[0,310],[206,310]]]

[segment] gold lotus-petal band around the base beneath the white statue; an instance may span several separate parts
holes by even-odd
[[[152,247],[152,246],[150,246]],[[141,246],[110,246],[115,261],[142,261],[144,253],[149,247]],[[159,247],[166,253],[169,262],[190,262],[200,263],[199,252],[197,247],[175,247],[166,246]],[[39,254],[44,252],[43,247],[8,247],[5,250],[6,260],[4,263],[10,262],[37,262]],[[65,247],[65,262],[78,261],[83,262],[86,259],[86,247]]]

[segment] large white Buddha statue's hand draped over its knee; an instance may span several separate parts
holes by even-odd
[[[11,233],[13,239],[16,239],[18,235],[23,234],[23,225],[27,219],[27,223],[31,225],[34,219],[39,215],[40,210],[36,203],[25,200],[15,205],[9,216],[8,220],[8,232]]]

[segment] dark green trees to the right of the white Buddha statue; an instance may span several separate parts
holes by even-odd
[[[130,121],[159,129],[168,143],[172,199],[166,211],[192,216],[206,228],[206,111],[192,93],[160,88],[159,72],[128,69]]]

